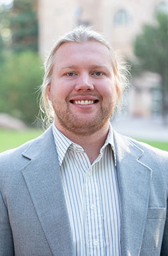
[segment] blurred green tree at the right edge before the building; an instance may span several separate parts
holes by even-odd
[[[167,122],[168,112],[168,15],[159,12],[155,25],[146,24],[136,36],[134,53],[142,70],[161,76],[162,116]]]

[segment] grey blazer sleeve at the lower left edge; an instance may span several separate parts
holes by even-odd
[[[13,237],[7,208],[0,191],[0,256],[13,256]]]

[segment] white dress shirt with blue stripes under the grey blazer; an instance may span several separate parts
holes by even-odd
[[[76,255],[120,256],[120,194],[111,126],[92,164],[80,145],[52,127]]]

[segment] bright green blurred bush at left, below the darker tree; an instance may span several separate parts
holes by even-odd
[[[42,62],[30,51],[11,54],[0,70],[0,112],[32,124],[38,115],[37,88],[42,83]]]

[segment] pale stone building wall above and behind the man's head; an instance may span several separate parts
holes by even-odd
[[[168,5],[168,0],[164,1]],[[132,57],[132,43],[144,23],[153,23],[162,0],[38,0],[39,51],[42,56],[79,24],[103,33],[114,49]],[[119,19],[119,17],[120,19]]]

